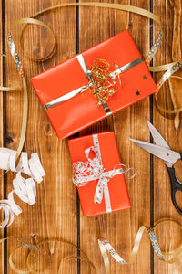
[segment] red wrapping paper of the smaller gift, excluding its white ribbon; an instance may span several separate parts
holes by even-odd
[[[73,165],[81,162],[82,164],[86,164],[88,161],[86,157],[86,150],[95,145],[94,137],[97,137],[99,142],[100,155],[105,172],[119,169],[121,167],[121,160],[118,153],[114,132],[102,132],[69,140],[68,145]],[[111,147],[112,149],[110,149]],[[101,204],[95,203],[94,198],[97,184],[98,180],[93,180],[88,181],[84,186],[77,187],[84,216],[95,216],[108,212],[106,211],[104,195]],[[109,212],[131,207],[124,173],[116,174],[113,177],[111,176],[107,182],[107,186],[111,207]]]

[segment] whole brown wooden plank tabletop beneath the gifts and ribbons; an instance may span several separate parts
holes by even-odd
[[[61,2],[68,1],[62,0]],[[155,65],[182,58],[182,32],[180,28],[182,2],[180,0],[110,0],[106,2],[136,5],[153,11],[161,18],[164,39],[154,59]],[[7,86],[17,85],[19,90],[7,94],[1,93],[0,95],[0,140],[2,146],[14,150],[17,148],[23,111],[21,81],[18,79],[15,64],[10,57],[6,42],[10,25],[18,18],[31,16],[43,8],[59,3],[58,0],[2,0],[0,3],[2,11],[1,52],[7,54],[8,57],[2,58],[1,83]],[[12,33],[18,52],[23,59],[28,85],[29,116],[24,151],[39,154],[45,167],[46,176],[43,183],[36,184],[35,205],[26,205],[15,197],[15,201],[22,207],[23,213],[20,216],[15,216],[13,225],[4,231],[1,230],[0,234],[1,237],[12,235],[21,237],[32,244],[45,238],[62,238],[86,252],[88,258],[96,266],[96,273],[104,273],[103,260],[97,245],[97,238],[100,234],[108,239],[123,258],[127,259],[134,244],[137,229],[141,225],[153,225],[156,220],[162,217],[173,217],[182,225],[181,216],[171,202],[170,182],[165,164],[129,141],[129,138],[132,137],[152,142],[147,128],[146,120],[148,119],[167,139],[171,148],[180,151],[182,150],[182,127],[179,125],[178,130],[176,130],[174,120],[167,120],[161,116],[157,112],[153,103],[154,99],[151,96],[76,134],[76,136],[82,136],[93,132],[115,131],[122,162],[135,167],[137,171],[135,179],[126,181],[132,205],[130,210],[84,218],[76,187],[72,183],[72,166],[67,140],[57,139],[43,107],[35,96],[30,78],[126,28],[129,29],[137,47],[145,56],[153,39],[157,37],[158,26],[153,25],[152,22],[142,16],[95,7],[56,9],[40,16],[40,19],[53,29],[57,41],[56,55],[44,64],[31,61],[20,50],[18,44],[20,26],[15,27]],[[43,55],[48,52],[51,43],[52,41],[45,29],[38,26],[27,27],[24,36],[26,53],[35,54],[35,56]],[[158,73],[155,79],[159,79],[161,75]],[[181,72],[178,72],[177,75],[181,75]],[[161,92],[166,92],[168,96],[175,98],[176,104],[179,104],[175,92],[181,91],[181,83],[175,88],[174,85],[175,83],[173,84],[172,81],[167,83]],[[61,117],[57,119],[61,119]],[[177,164],[179,178],[180,171],[181,166]],[[1,176],[1,198],[5,198],[12,190],[14,177],[15,174],[11,172],[4,177]],[[179,247],[182,241],[182,233],[174,224],[166,223],[159,226],[156,233],[159,244],[164,250],[174,250]],[[18,245],[15,241],[7,241],[1,246],[1,273],[14,273],[9,267],[8,258]],[[45,273],[57,273],[61,257],[71,256],[72,253],[76,255],[74,248],[63,243],[49,243],[45,248],[52,257],[51,268]],[[60,248],[59,252],[57,248]],[[25,253],[27,250],[23,249],[15,253],[14,261],[18,268],[24,269]],[[112,274],[182,273],[182,258],[179,258],[173,265],[167,265],[158,260],[150,247],[147,233],[142,239],[138,256],[133,265],[121,266],[112,258],[110,258],[110,262]],[[44,263],[44,266],[45,264],[47,266],[48,263]],[[94,270],[90,272],[86,262],[76,259],[65,261],[62,263],[61,269],[61,273],[66,274],[95,273]]]

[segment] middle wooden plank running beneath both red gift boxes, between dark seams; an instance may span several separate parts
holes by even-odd
[[[108,1],[110,3],[111,1]],[[120,3],[115,1],[115,3]],[[149,1],[122,1],[122,4],[136,5],[149,9]],[[126,12],[111,11],[106,8],[80,8],[80,51],[92,47],[108,37],[129,28],[142,53],[149,48],[149,26],[147,19],[128,15]],[[141,26],[143,26],[141,28]],[[144,115],[145,113],[145,115]],[[93,132],[115,131],[116,140],[123,163],[137,170],[135,180],[127,180],[126,184],[131,199],[131,210],[111,213],[105,216],[83,217],[81,213],[81,248],[94,261],[96,273],[104,273],[104,265],[97,246],[97,227],[101,236],[106,237],[121,256],[128,258],[133,246],[136,232],[142,224],[150,221],[150,170],[149,155],[129,142],[129,137],[142,139],[147,133],[146,119],[149,118],[149,98],[142,100],[124,111],[116,113],[105,121],[91,126],[82,135]],[[145,168],[143,168],[143,163]],[[92,245],[91,245],[92,243]],[[147,237],[143,238],[139,256],[132,266],[120,266],[113,259],[111,273],[150,273],[150,245]],[[86,273],[86,265],[81,265],[81,273]]]

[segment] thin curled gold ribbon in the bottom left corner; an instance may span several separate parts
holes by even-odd
[[[63,245],[66,248],[72,248],[73,249],[73,254],[70,254],[69,256],[63,256],[60,258],[59,256],[59,261],[58,261],[58,270],[57,270],[57,274],[61,274],[63,273],[63,265],[66,263],[66,261],[70,261],[73,259],[79,259],[81,261],[84,261],[85,263],[88,264],[90,270],[94,269],[96,270],[94,264],[90,261],[90,259],[86,256],[86,253],[84,251],[82,251],[80,248],[77,248],[76,245],[64,240],[64,239],[44,239],[42,241],[39,241],[37,243],[34,244],[30,244],[28,243],[26,240],[22,239],[22,238],[18,238],[18,237],[6,237],[6,238],[2,238],[0,239],[0,243],[3,243],[5,241],[16,241],[19,242],[21,245],[18,248],[15,248],[9,256],[9,266],[10,268],[15,271],[15,273],[17,274],[44,274],[47,273],[47,271],[51,271],[51,258],[52,256],[50,255],[49,250],[46,250],[45,247],[49,247],[50,245],[54,244],[60,244],[62,245],[62,247],[58,247],[56,248],[56,250],[59,252],[63,249]],[[24,270],[23,269],[19,269],[19,267],[15,266],[15,262],[14,262],[14,255],[15,252],[18,249],[28,249],[28,253],[27,255],[25,255],[25,266],[24,266]],[[77,252],[79,251],[79,256],[77,256]],[[44,266],[46,265],[45,269],[43,267],[42,264],[40,264],[39,268],[40,269],[44,269],[42,271],[37,270],[38,268],[38,264],[40,262],[39,257],[42,256],[44,262],[46,262],[44,264]],[[41,258],[41,261],[42,261]],[[44,263],[43,262],[43,263]],[[48,269],[47,269],[48,266]],[[64,268],[65,269],[65,268]]]

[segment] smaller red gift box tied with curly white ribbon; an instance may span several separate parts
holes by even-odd
[[[72,139],[68,145],[83,215],[130,208],[114,132]]]

